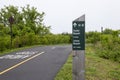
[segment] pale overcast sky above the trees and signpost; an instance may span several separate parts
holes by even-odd
[[[120,0],[0,0],[4,5],[34,6],[45,12],[44,23],[53,33],[72,32],[72,21],[86,15],[86,31],[120,29]]]

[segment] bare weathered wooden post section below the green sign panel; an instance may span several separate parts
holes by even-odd
[[[85,51],[73,51],[73,80],[85,80]]]

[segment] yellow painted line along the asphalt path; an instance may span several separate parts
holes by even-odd
[[[43,53],[45,53],[45,52],[38,53],[38,54],[36,54],[36,55],[34,55],[34,56],[32,56],[32,57],[30,57],[30,58],[28,58],[28,59],[26,59],[26,60],[18,63],[18,64],[14,65],[14,66],[12,66],[12,67],[10,67],[10,68],[5,69],[4,71],[0,72],[0,75],[2,75],[2,74],[4,74],[4,73],[6,73],[6,72],[8,72],[8,71],[10,71],[10,70],[18,67],[18,66],[20,66],[20,65],[22,65],[22,64],[24,64],[25,62],[27,62],[27,61],[29,61],[29,60],[31,60],[31,59],[33,59],[33,58],[35,58],[35,57],[43,54]]]

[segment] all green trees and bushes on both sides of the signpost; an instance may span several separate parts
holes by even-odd
[[[0,9],[0,52],[31,45],[64,44],[72,42],[69,33],[53,34],[51,26],[43,22],[44,12],[35,7],[4,6]],[[13,17],[12,46],[9,18]],[[94,46],[102,58],[120,62],[120,30],[105,29],[102,32],[86,32],[86,43]]]

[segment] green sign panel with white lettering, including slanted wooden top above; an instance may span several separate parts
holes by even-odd
[[[74,20],[72,26],[73,50],[85,50],[85,15]]]

